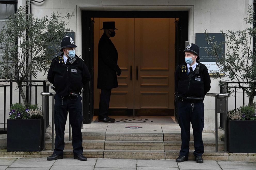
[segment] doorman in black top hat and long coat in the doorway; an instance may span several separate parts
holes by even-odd
[[[108,117],[108,108],[111,89],[118,87],[117,76],[121,75],[121,69],[117,65],[117,50],[110,40],[115,36],[115,22],[103,22],[104,33],[100,38],[98,47],[98,84],[101,89],[99,104],[99,122],[115,122]],[[101,30],[102,30],[101,29]]]

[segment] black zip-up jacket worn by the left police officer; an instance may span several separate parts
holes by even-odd
[[[61,54],[63,57],[64,53]],[[77,57],[77,56],[76,56]],[[84,61],[77,57],[73,64],[59,63],[59,57],[55,57],[48,71],[47,79],[55,86],[55,91],[60,96],[67,96],[69,92],[79,93],[91,75]]]

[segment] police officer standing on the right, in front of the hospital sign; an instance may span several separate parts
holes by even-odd
[[[199,48],[189,44],[184,50],[185,63],[175,70],[175,96],[181,128],[181,149],[176,162],[188,160],[190,122],[194,136],[194,156],[197,163],[203,163],[204,144],[204,97],[211,88],[208,69],[199,62]]]

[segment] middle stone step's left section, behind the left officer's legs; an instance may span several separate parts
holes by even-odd
[[[105,140],[83,140],[84,149],[104,149]],[[52,141],[45,142],[45,149],[52,149]],[[73,149],[72,141],[65,141],[64,149]]]

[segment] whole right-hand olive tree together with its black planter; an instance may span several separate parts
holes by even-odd
[[[225,42],[216,42],[205,31],[206,41],[211,50],[206,51],[208,55],[216,58],[218,70],[212,71],[214,78],[221,79],[219,85],[225,86],[225,81],[246,82],[238,84],[249,97],[247,106],[230,111],[228,114],[228,151],[233,153],[256,153],[256,114],[253,99],[256,96],[256,55],[253,37],[256,37],[256,28],[253,24],[254,12],[252,6],[248,6],[247,17],[243,22],[248,25],[244,30],[226,33],[220,31]],[[227,53],[222,53],[222,44],[227,47]],[[221,56],[221,57],[219,57]],[[221,73],[225,73],[221,75]],[[248,88],[249,87],[249,88]],[[232,92],[227,89],[227,92]]]

